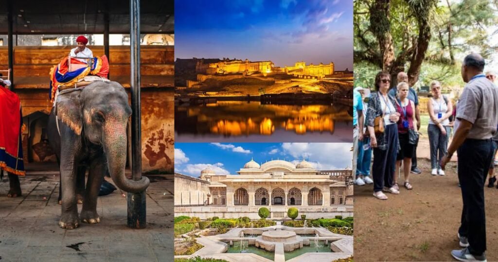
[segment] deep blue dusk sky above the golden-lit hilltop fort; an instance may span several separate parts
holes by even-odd
[[[353,68],[352,0],[176,0],[175,57]]]

